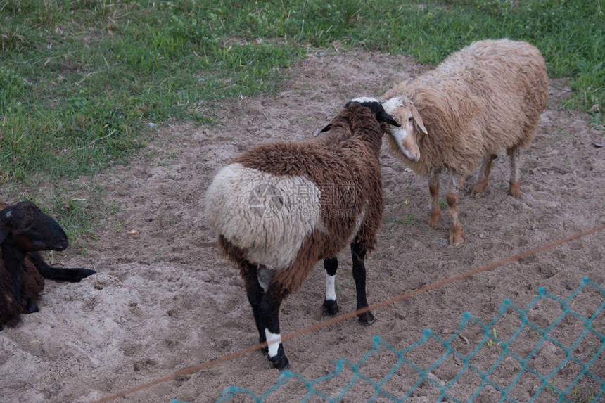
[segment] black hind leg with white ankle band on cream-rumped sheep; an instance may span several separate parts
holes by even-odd
[[[279,306],[286,294],[278,283],[272,283],[260,302],[260,322],[265,326],[265,338],[269,343],[269,361],[279,370],[290,366],[279,333]]]

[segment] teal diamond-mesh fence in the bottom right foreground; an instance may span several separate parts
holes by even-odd
[[[300,402],[602,402],[604,306],[589,279],[565,300],[540,288],[525,309],[504,300],[488,324],[466,313],[449,337],[427,329],[402,350],[376,336],[359,362],[341,359],[326,376],[283,371],[262,395],[232,385],[216,402],[279,401],[280,391]]]

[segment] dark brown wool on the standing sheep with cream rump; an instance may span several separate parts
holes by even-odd
[[[378,162],[382,135],[369,109],[353,104],[331,122],[327,134],[304,143],[257,146],[233,161],[276,177],[305,177],[321,191],[322,228],[308,234],[293,264],[276,270],[272,278],[286,293],[300,287],[318,260],[336,257],[350,241],[359,243],[362,250],[372,250],[376,245],[384,209]],[[248,267],[244,264],[246,250],[222,236],[219,245],[244,275]]]

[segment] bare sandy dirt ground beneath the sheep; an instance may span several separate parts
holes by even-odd
[[[128,166],[76,181],[69,197],[99,197],[101,188],[114,213],[96,228],[96,239],[84,242],[85,250],[69,248],[55,254],[54,263],[89,267],[98,273],[82,283],[47,281],[40,312],[24,316],[20,326],[0,333],[0,401],[92,402],[255,345],[257,332],[243,281],[219,254],[217,234],[210,231],[204,217],[204,193],[213,175],[255,144],[309,139],[350,98],[381,96],[393,84],[428,68],[406,56],[317,51],[284,71],[288,78],[276,96],[200,105],[219,124],[164,125],[155,133],[155,141]],[[502,152],[485,196],[469,194],[474,174],[461,190],[465,242],[458,247],[447,245],[446,210],[442,229],[426,225],[426,179],[409,172],[383,145],[386,210],[378,248],[366,260],[370,304],[605,224],[605,148],[595,145],[604,142],[603,132],[589,124],[587,115],[561,110],[569,94],[564,80],[552,80],[549,93],[549,107],[540,119],[536,139],[522,156],[521,199],[507,196],[509,160]],[[131,230],[138,234],[129,235]],[[540,287],[567,298],[584,277],[605,286],[604,255],[605,231],[601,231],[377,309],[372,326],[347,319],[300,335],[284,343],[291,371],[313,379],[333,371],[338,359],[357,362],[371,348],[374,335],[397,349],[415,343],[426,328],[447,338],[464,312],[488,323],[498,314],[502,300],[526,307]],[[350,252],[343,250],[339,260],[337,295],[340,312],[345,313],[355,309]],[[300,290],[282,305],[282,333],[326,320],[321,311],[324,293],[324,271],[318,263]],[[574,303],[574,309],[590,316],[603,298],[587,292]],[[531,312],[532,321],[547,327],[561,309],[545,303]],[[593,326],[602,333],[605,319],[600,316]],[[497,324],[502,338],[509,337],[518,324],[514,314],[506,318]],[[565,319],[552,335],[571,346],[583,329],[580,325],[577,319]],[[527,355],[539,335],[522,333],[511,348]],[[465,354],[483,337],[473,326],[462,335],[452,347]],[[589,360],[600,344],[589,335],[572,352]],[[498,356],[497,349],[497,345],[483,347],[473,364],[488,369]],[[426,368],[444,351],[437,343],[428,343],[410,357]],[[547,374],[565,356],[561,346],[546,343],[531,363]],[[373,354],[360,370],[380,380],[395,361],[394,354]],[[431,377],[445,385],[462,366],[459,359],[450,357]],[[568,364],[552,382],[565,389],[577,375],[577,367]],[[492,378],[507,388],[518,369],[508,359]],[[590,370],[605,378],[603,354]],[[266,357],[251,352],[116,401],[212,402],[229,385],[262,394],[278,376]],[[333,396],[351,377],[350,371],[343,371],[318,388]],[[417,379],[409,366],[402,366],[385,388],[402,396]],[[469,373],[452,393],[469,399],[480,382],[480,377]],[[589,401],[590,394],[599,390],[585,378],[578,385],[571,401]],[[537,377],[523,376],[511,396],[526,402],[539,386]],[[343,402],[363,401],[373,392],[359,381]],[[296,401],[304,395],[303,383],[294,381],[267,401]],[[437,396],[438,389],[424,382],[409,401],[433,402]],[[497,399],[488,387],[476,402]],[[233,401],[250,399],[238,395]],[[553,402],[556,397],[544,391],[535,401]]]

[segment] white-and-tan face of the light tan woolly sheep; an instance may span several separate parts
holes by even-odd
[[[414,108],[411,105],[404,105],[400,98],[390,98],[383,104],[386,113],[393,116],[401,127],[390,127],[390,135],[397,144],[399,150],[412,162],[420,160],[420,148],[416,143],[416,130],[414,129],[414,120],[416,124],[424,128],[424,124],[418,122],[419,116],[414,116]],[[416,112],[417,113],[417,112]]]

